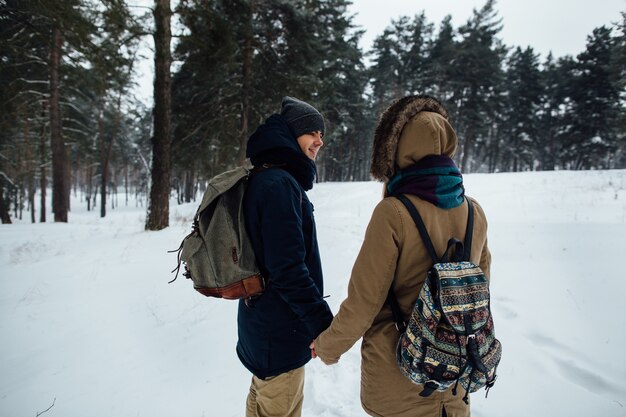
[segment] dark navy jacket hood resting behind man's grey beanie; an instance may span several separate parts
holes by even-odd
[[[273,114],[248,139],[246,157],[253,158],[262,152],[278,148],[289,148],[302,153],[285,118],[279,114]]]

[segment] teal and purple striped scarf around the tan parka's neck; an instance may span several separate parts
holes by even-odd
[[[463,177],[454,161],[444,155],[429,155],[397,172],[387,184],[389,195],[412,194],[451,209],[463,204]]]

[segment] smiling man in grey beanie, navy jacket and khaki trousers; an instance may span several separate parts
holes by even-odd
[[[285,97],[280,114],[270,116],[248,141],[255,170],[244,215],[266,290],[239,303],[237,354],[253,374],[247,417],[301,415],[309,344],[332,321],[306,195],[323,135],[322,115]]]

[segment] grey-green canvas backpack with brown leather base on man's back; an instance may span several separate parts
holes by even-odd
[[[192,231],[178,248],[176,277],[182,263],[183,275],[207,297],[250,298],[265,288],[243,212],[251,173],[252,167],[247,165],[209,181],[194,216]]]

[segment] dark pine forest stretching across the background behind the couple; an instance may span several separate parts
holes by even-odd
[[[626,168],[626,12],[578,55],[541,57],[504,43],[495,0],[459,27],[399,16],[367,51],[349,5],[0,0],[2,222],[68,222],[74,194],[101,217],[145,204],[146,229],[167,227],[171,197],[193,201],[241,164],[285,95],[326,119],[319,181],[369,180],[377,117],[409,94],[449,110],[464,173]],[[135,95],[142,54],[150,107]]]

